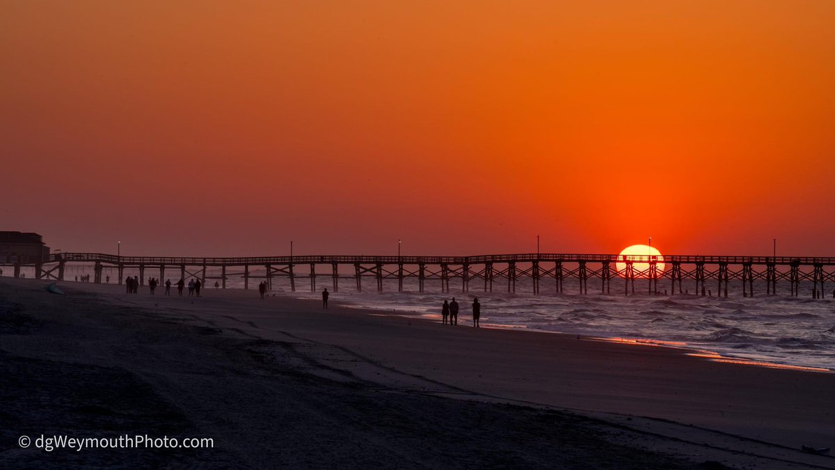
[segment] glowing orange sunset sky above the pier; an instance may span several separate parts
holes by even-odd
[[[574,3],[4,3],[0,229],[835,255],[835,2]]]

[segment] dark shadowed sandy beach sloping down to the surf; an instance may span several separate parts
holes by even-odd
[[[338,293],[323,311],[256,291],[44,284],[0,281],[3,460],[16,465],[835,467],[800,451],[835,443],[835,374],[453,327]],[[17,446],[60,432],[215,448]]]

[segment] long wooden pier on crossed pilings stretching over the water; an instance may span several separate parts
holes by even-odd
[[[659,294],[659,284],[668,284],[671,294],[684,294],[692,285],[698,295],[712,294],[727,297],[728,286],[739,283],[743,296],[753,296],[755,281],[766,284],[764,294],[777,294],[777,284],[788,284],[789,294],[800,295],[801,283],[812,281],[810,293],[815,299],[824,297],[824,284],[835,283],[835,258],[758,257],[758,256],[621,256],[613,254],[499,254],[466,257],[443,256],[279,256],[252,258],[164,258],[129,257],[102,253],[55,253],[43,263],[30,264],[37,278],[63,280],[67,263],[89,263],[94,266],[95,283],[102,282],[104,268],[118,271],[117,282],[122,284],[126,268],[139,272],[144,284],[147,276],[165,278],[175,272],[175,278],[218,279],[225,289],[230,277],[244,279],[250,288],[251,278],[261,278],[271,287],[275,278],[288,278],[291,290],[306,280],[316,291],[317,280],[329,279],[331,289],[340,289],[340,280],[350,279],[357,291],[367,287],[363,279],[374,280],[373,289],[382,291],[384,279],[397,279],[402,291],[406,278],[417,278],[417,289],[423,292],[428,283],[438,283],[443,292],[458,284],[463,293],[470,289],[493,292],[506,289],[516,292],[519,279],[529,278],[534,294],[540,285],[553,283],[555,291],[564,292],[564,281],[573,279],[579,294],[587,294],[589,284],[596,284],[602,294],[612,294],[615,278],[624,280],[623,293],[640,291]],[[664,267],[661,268],[663,263]],[[299,272],[297,267],[307,267]],[[208,268],[220,268],[220,275],[208,275]],[[263,274],[252,273],[263,268]],[[341,269],[342,268],[342,271]],[[15,266],[15,273],[20,266]],[[762,284],[762,283],[757,283]],[[208,287],[208,286],[207,286]],[[344,287],[344,286],[343,286]],[[663,289],[663,287],[661,288]],[[689,292],[690,289],[687,289]],[[617,294],[617,293],[615,293]],[[761,293],[762,294],[762,293]]]

